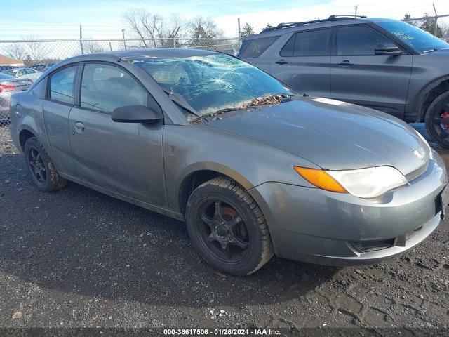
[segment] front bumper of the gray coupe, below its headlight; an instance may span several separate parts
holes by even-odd
[[[264,183],[250,193],[267,219],[277,256],[323,265],[369,264],[401,255],[438,227],[438,196],[446,179],[434,153],[410,185],[377,199],[283,183]]]

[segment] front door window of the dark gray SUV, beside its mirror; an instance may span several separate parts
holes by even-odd
[[[365,26],[341,27],[337,31],[337,55],[375,55],[378,44],[391,44],[380,32]]]

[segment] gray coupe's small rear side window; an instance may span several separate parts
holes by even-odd
[[[50,78],[50,98],[63,103],[74,103],[74,81],[76,68],[67,67],[55,72]]]

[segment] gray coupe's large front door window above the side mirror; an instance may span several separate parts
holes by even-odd
[[[88,63],[81,79],[81,107],[112,112],[126,105],[147,106],[149,95],[125,70]]]

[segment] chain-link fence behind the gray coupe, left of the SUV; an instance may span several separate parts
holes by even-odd
[[[11,94],[35,81],[60,60],[81,54],[134,48],[198,48],[236,55],[238,38],[223,39],[73,39],[0,41],[0,135],[8,133]],[[7,56],[7,58],[5,58]],[[17,77],[23,81],[12,81]],[[25,82],[25,79],[31,81]]]

